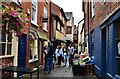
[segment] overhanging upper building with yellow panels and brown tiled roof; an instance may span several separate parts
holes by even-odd
[[[51,2],[51,41],[54,41],[54,46],[64,45],[64,36],[66,35],[66,22],[64,10],[58,5]]]

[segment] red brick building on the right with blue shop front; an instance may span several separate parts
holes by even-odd
[[[120,2],[84,0],[83,11],[85,35],[88,34],[89,54],[94,56],[96,75],[120,78]]]

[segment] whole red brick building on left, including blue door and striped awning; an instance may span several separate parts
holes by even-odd
[[[44,42],[49,39],[50,2],[48,0],[10,0],[10,5],[15,8],[22,8],[22,13],[27,14],[29,19],[26,32],[21,38],[11,38],[11,47],[8,50],[1,47],[0,53],[5,49],[9,54],[0,54],[0,66],[23,66],[36,67],[44,64]],[[0,32],[2,36],[2,33]],[[1,37],[2,38],[2,37]]]

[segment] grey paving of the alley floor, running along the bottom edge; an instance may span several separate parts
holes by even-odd
[[[46,74],[44,72],[43,67],[41,67],[39,76],[40,76],[40,79],[98,79],[95,75],[74,76],[72,67],[69,67],[68,65],[66,67],[63,67],[63,66],[58,67],[57,65],[55,65],[51,73],[48,73],[48,74]],[[33,77],[34,79],[36,79],[37,75],[34,74]]]

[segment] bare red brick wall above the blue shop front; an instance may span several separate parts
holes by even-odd
[[[99,25],[118,6],[120,6],[120,2],[105,2],[104,4],[101,2],[95,2],[95,17],[90,21],[91,30]]]

